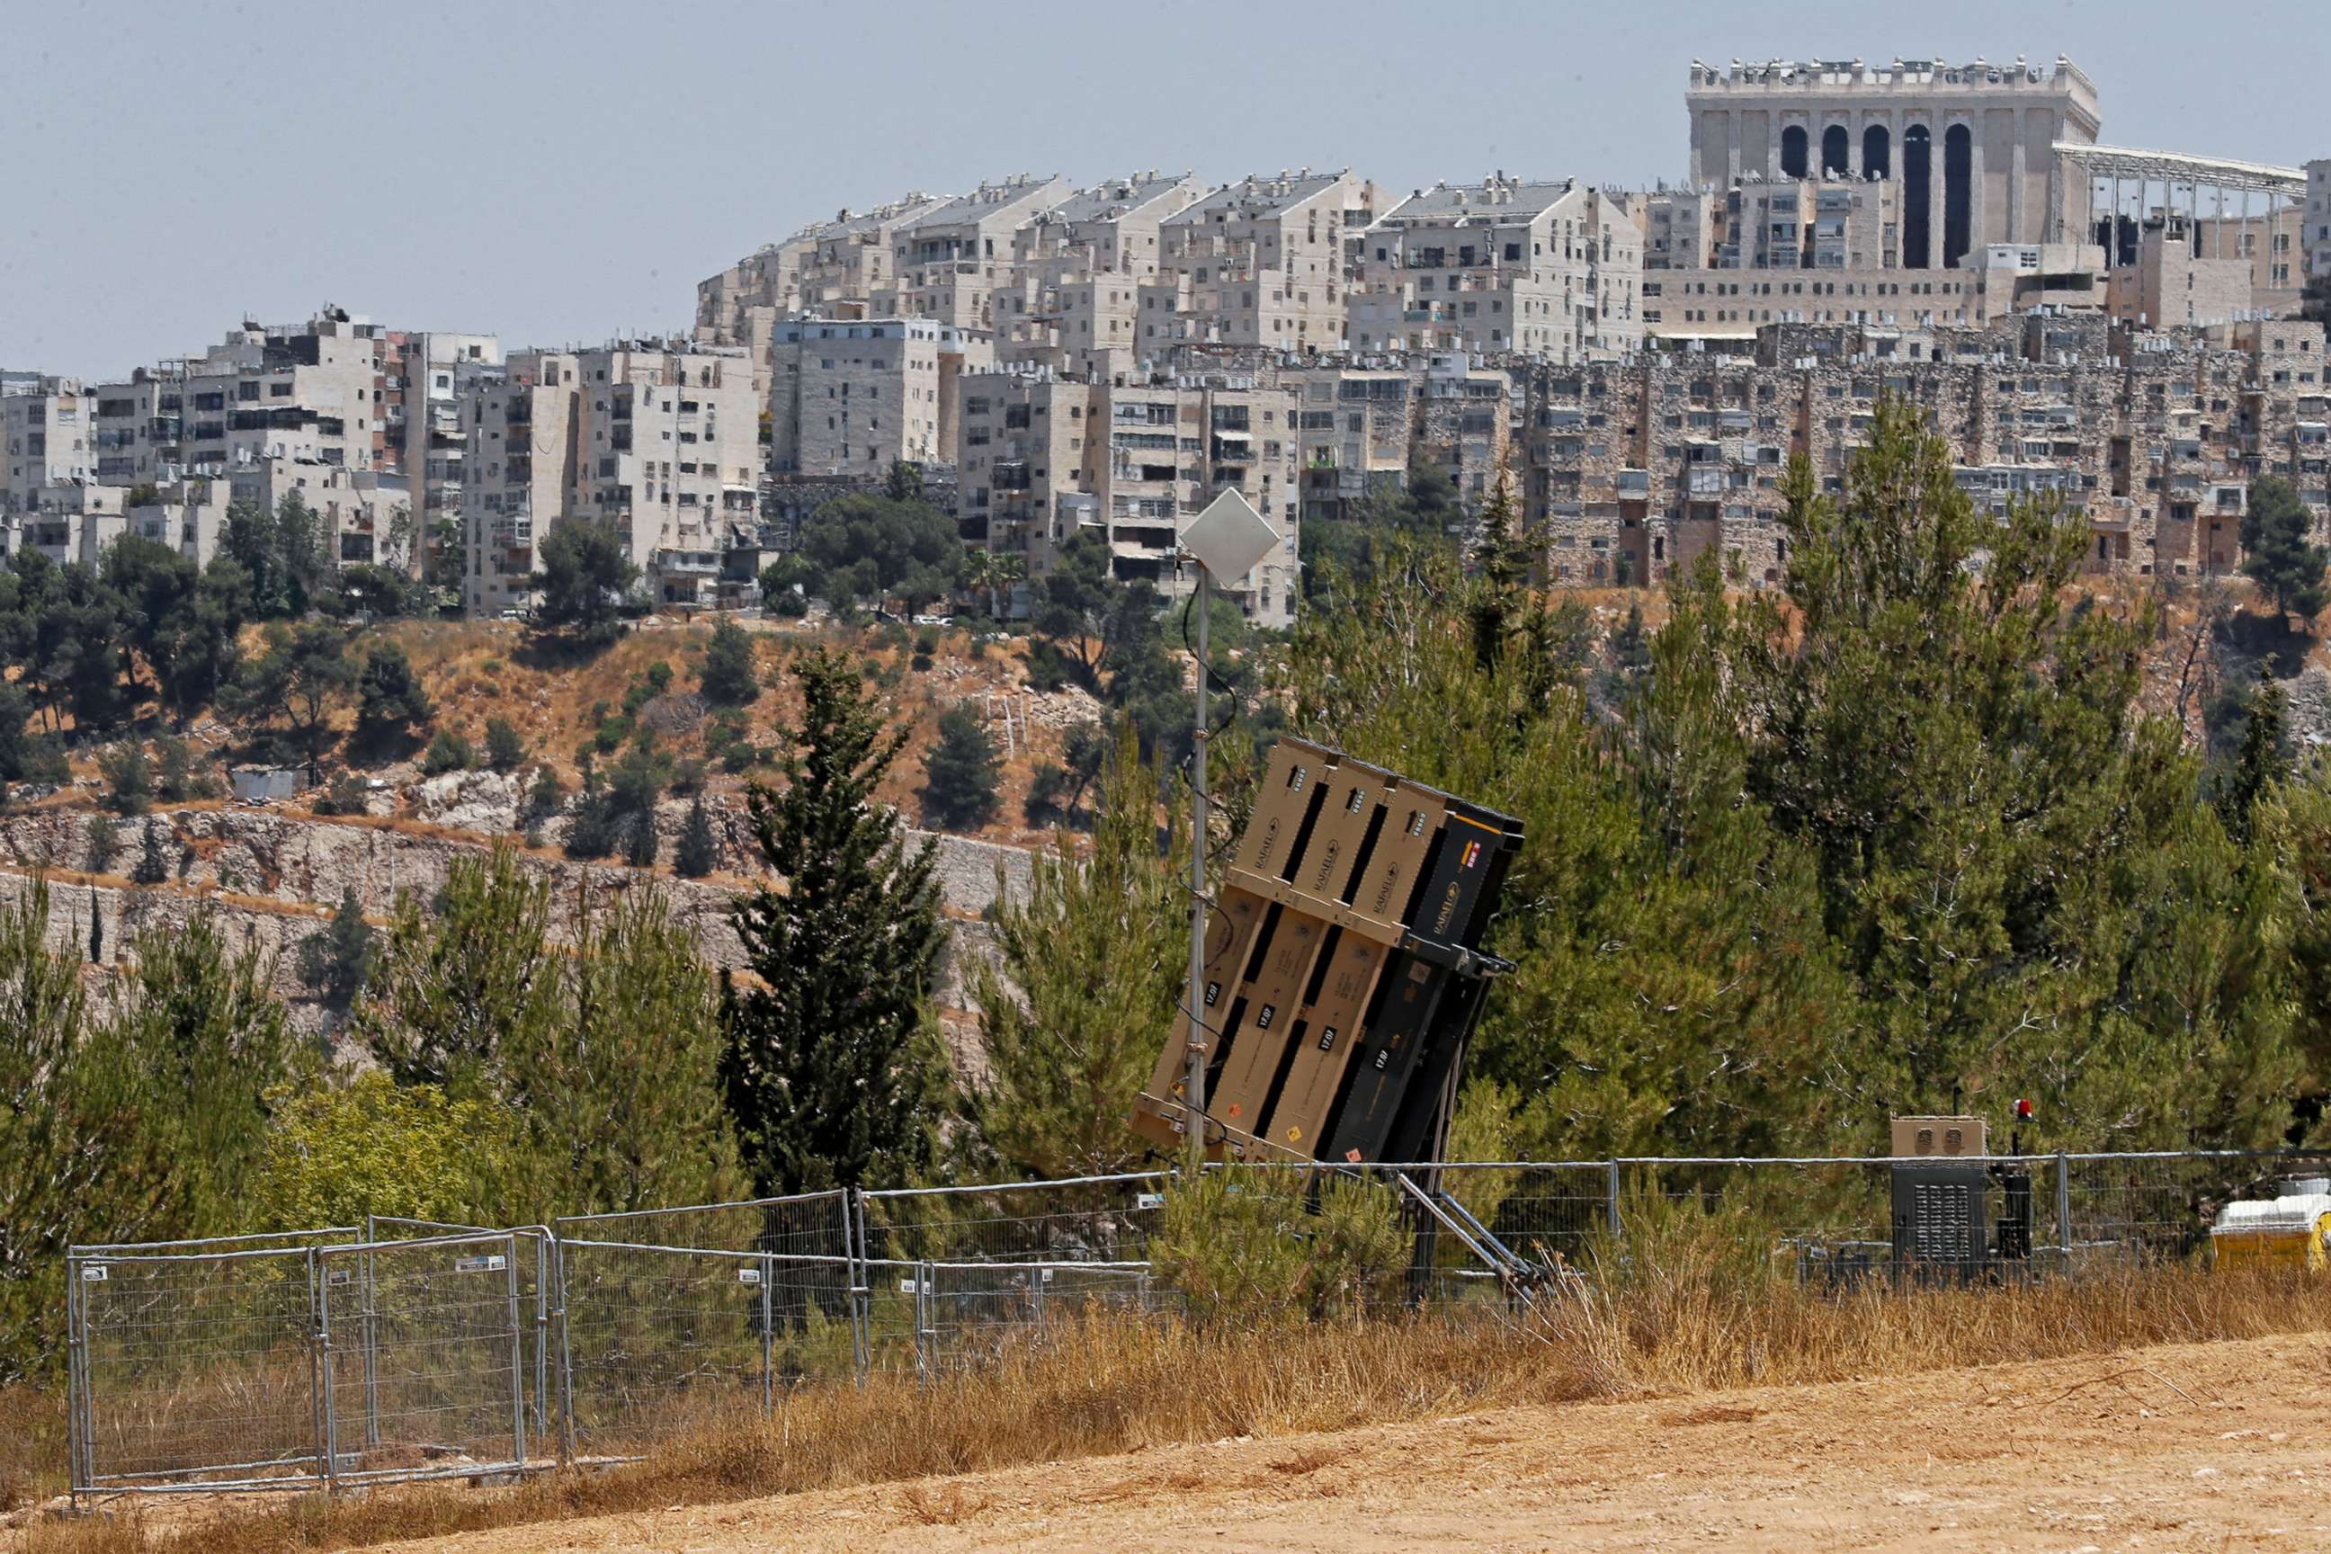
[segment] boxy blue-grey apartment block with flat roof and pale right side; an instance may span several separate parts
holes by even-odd
[[[939,319],[788,319],[769,345],[769,471],[879,478],[956,457],[956,384],[988,333]]]

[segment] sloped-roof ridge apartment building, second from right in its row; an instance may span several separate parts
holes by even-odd
[[[1345,172],[1280,172],[1224,184],[1159,224],[1159,277],[1142,287],[1140,342],[1336,352],[1345,294],[1382,196]]]

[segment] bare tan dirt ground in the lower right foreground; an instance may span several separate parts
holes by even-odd
[[[2331,1549],[2331,1335],[1501,1410],[399,1545]]]

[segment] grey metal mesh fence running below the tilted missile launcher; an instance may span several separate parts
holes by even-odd
[[[1228,1170],[1233,1191],[1266,1186],[1249,1167],[1210,1170]],[[1319,1209],[1324,1179],[1382,1188],[1371,1214],[1396,1219],[1385,1235],[1401,1258],[1371,1274],[1361,1309],[1462,1314],[1510,1302],[1517,1274],[1611,1279],[1622,1298],[1632,1270],[1681,1249],[1823,1293],[2200,1263],[2226,1202],[2331,1177],[2331,1156],[1275,1170],[1270,1191],[1294,1181],[1298,1214],[1305,1193]],[[1042,1342],[1086,1312],[1177,1312],[1172,1263],[1152,1258],[1154,1246],[1166,1256],[1172,1181],[1128,1172],[517,1230],[373,1219],[79,1246],[68,1267],[72,1486],[331,1489],[622,1458],[706,1421],[767,1414],[807,1382],[930,1377]]]

